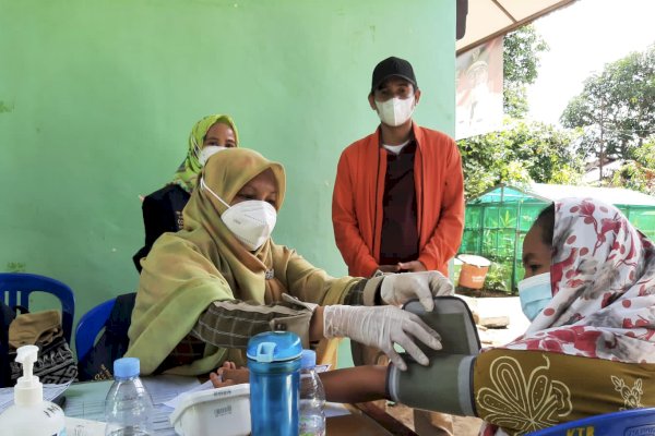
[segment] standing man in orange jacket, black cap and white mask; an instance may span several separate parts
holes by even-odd
[[[439,270],[456,254],[464,228],[464,180],[455,142],[420,128],[414,70],[389,58],[369,94],[380,126],[341,156],[332,197],[336,245],[350,276]]]

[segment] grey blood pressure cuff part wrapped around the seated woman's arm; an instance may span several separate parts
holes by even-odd
[[[473,397],[475,355],[430,359],[429,366],[407,362],[407,371],[390,365],[386,390],[392,400],[416,409],[477,416]]]

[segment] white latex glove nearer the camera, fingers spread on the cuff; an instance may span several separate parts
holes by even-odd
[[[441,337],[417,315],[395,306],[325,306],[325,338],[350,338],[361,344],[380,349],[401,371],[407,365],[393,344],[403,347],[421,365],[428,358],[415,343],[418,339],[433,350],[441,350]]]

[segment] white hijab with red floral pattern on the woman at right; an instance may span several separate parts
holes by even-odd
[[[553,298],[503,347],[655,363],[655,246],[614,206],[556,202]]]

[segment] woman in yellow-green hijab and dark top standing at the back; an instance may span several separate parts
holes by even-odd
[[[165,232],[176,232],[183,227],[182,209],[195,187],[198,173],[207,158],[221,149],[237,147],[238,144],[237,126],[228,116],[213,114],[195,123],[189,135],[187,157],[172,180],[143,198],[141,208],[145,245],[132,257],[139,272],[141,272],[141,259],[147,256],[157,238]]]

